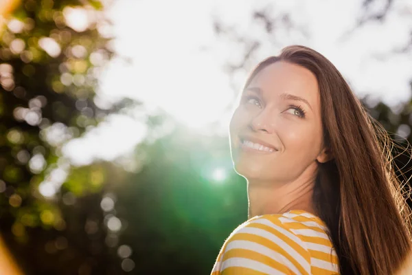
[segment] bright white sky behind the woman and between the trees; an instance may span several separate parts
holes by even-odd
[[[290,14],[295,27],[289,32],[279,28],[270,37],[262,25],[251,20],[253,9],[270,2],[276,3],[271,5],[273,18]],[[117,37],[115,50],[133,63],[127,65],[120,59],[111,62],[100,78],[98,102],[115,102],[123,97],[143,100],[151,109],[165,109],[194,131],[206,131],[208,122],[219,120],[225,134],[230,115],[225,108],[233,102],[234,91],[223,65],[239,61],[244,50],[236,41],[214,35],[214,15],[240,36],[262,43],[248,70],[286,45],[306,45],[329,58],[358,96],[372,94],[394,106],[411,94],[412,54],[391,51],[410,40],[412,1],[394,1],[384,23],[371,22],[354,29],[361,2],[113,1],[108,14]],[[385,2],[376,1],[371,11],[381,10]],[[243,71],[236,75],[234,85],[238,89],[246,76]],[[64,153],[79,165],[96,157],[111,160],[129,153],[144,134],[145,127],[138,120],[111,115],[98,129],[69,142]]]

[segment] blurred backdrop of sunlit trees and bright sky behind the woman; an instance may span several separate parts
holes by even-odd
[[[247,219],[236,96],[286,45],[329,58],[412,140],[412,1],[1,0],[0,14],[0,274],[209,274]]]

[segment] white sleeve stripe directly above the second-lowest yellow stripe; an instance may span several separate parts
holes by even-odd
[[[275,250],[271,250],[270,248],[266,248],[264,245],[260,245],[259,243],[253,243],[252,241],[231,241],[226,248],[226,252],[232,249],[244,249],[244,250],[251,250],[254,252],[258,252],[264,256],[268,256],[269,258],[285,265],[290,270],[292,270],[295,274],[299,274],[299,270],[297,269],[296,265],[291,263],[284,255],[280,254]]]

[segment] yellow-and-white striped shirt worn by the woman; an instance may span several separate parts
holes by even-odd
[[[211,275],[339,274],[323,221],[304,210],[256,216],[223,244]]]

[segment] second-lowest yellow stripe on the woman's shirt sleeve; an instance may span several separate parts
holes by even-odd
[[[265,256],[264,254],[260,254],[252,250],[245,250],[240,248],[229,250],[225,252],[223,261],[226,261],[230,258],[246,258],[249,260],[257,261],[259,263],[263,263],[274,268],[275,270],[282,271],[286,274],[293,274],[292,270],[286,267],[286,265],[284,265],[283,263],[279,263],[278,261],[273,260],[271,257]]]

